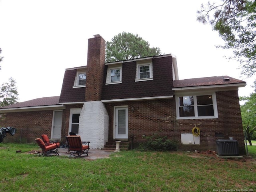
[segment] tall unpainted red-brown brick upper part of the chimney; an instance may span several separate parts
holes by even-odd
[[[105,67],[106,42],[100,35],[88,39],[85,101],[100,101]]]

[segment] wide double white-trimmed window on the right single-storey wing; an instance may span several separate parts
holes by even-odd
[[[218,118],[216,95],[181,95],[176,96],[178,119]]]

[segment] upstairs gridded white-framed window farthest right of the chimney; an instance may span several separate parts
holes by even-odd
[[[153,80],[152,60],[137,61],[135,81]]]

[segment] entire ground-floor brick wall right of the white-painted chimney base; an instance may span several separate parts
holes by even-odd
[[[144,142],[142,136],[154,133],[166,135],[178,144],[179,150],[215,150],[215,133],[223,133],[224,138],[238,140],[240,154],[245,154],[243,128],[237,91],[216,92],[218,118],[177,120],[175,96],[173,99],[117,102],[105,104],[109,114],[109,141],[113,140],[114,106],[128,105],[129,141],[133,135],[133,146]],[[134,111],[131,108],[134,108]],[[200,128],[200,145],[181,144],[182,133],[192,133],[192,128]]]

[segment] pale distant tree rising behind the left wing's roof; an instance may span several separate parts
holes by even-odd
[[[18,91],[16,81],[10,77],[8,82],[2,84],[0,88],[0,106],[11,105],[17,103]]]

